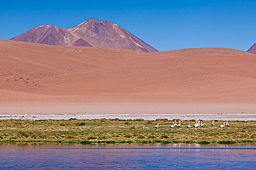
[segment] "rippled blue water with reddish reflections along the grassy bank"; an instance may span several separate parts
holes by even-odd
[[[0,145],[0,169],[256,170],[256,146]]]

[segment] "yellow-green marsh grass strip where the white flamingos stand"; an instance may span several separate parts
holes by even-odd
[[[186,126],[194,120],[181,121],[180,128],[170,129],[173,120],[91,119],[91,120],[0,120],[0,142],[59,143],[220,143],[256,142],[256,121],[203,121],[205,127],[194,132]],[[158,130],[155,126],[159,124]]]

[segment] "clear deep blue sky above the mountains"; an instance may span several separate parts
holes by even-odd
[[[39,25],[71,28],[94,17],[112,21],[159,51],[256,42],[256,0],[4,0],[0,38]]]

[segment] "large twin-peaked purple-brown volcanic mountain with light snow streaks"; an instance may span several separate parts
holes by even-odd
[[[143,52],[158,51],[109,21],[90,18],[70,29],[42,25],[11,40],[59,46],[110,47]]]

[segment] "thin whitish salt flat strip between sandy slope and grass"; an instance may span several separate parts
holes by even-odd
[[[0,115],[0,120],[6,119],[22,119],[22,120],[68,120],[68,119],[180,119],[180,120],[194,120],[200,119],[209,121],[216,120],[231,120],[231,121],[256,121],[256,114],[13,114]]]

